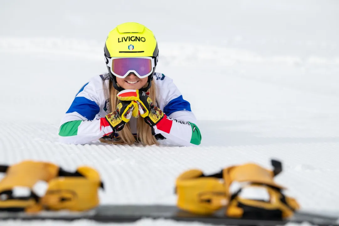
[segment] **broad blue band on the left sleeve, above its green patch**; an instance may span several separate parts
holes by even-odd
[[[100,108],[95,101],[81,96],[74,98],[71,107],[66,113],[77,112],[88,120],[93,120],[99,111]]]

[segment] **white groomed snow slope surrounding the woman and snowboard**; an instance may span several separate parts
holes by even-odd
[[[108,32],[129,21],[156,35],[157,71],[190,101],[200,146],[57,142],[77,91],[106,72]],[[303,210],[339,213],[338,40],[334,0],[2,0],[0,161],[90,165],[106,184],[102,204],[175,204],[174,182],[184,170],[212,173],[247,162],[271,167],[278,158],[284,171],[276,180]],[[211,115],[210,107],[218,111]],[[16,224],[23,225],[1,222]]]

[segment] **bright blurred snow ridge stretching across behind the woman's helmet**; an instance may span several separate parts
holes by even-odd
[[[88,60],[103,60],[104,43],[95,40],[71,38],[19,38],[0,37],[0,52],[48,53],[75,56]],[[306,58],[292,55],[262,56],[237,48],[224,48],[209,44],[163,42],[160,58],[171,65],[197,65],[200,61],[232,66],[237,63],[283,63],[292,65],[339,65],[339,56]]]

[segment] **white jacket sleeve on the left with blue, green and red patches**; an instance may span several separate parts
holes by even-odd
[[[113,129],[105,118],[96,117],[100,112],[101,102],[95,81],[86,83],[60,122],[59,142],[86,144],[112,133]]]

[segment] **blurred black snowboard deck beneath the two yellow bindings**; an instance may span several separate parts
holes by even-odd
[[[234,219],[223,216],[223,211],[219,211],[211,216],[203,216],[188,213],[178,209],[176,206],[164,205],[101,205],[96,209],[86,212],[68,211],[42,211],[38,214],[28,214],[23,212],[0,212],[1,220],[66,220],[74,221],[88,219],[98,222],[135,222],[140,219],[168,219],[180,222],[200,222],[214,225],[253,225],[253,226],[275,226],[287,223],[308,222],[312,225],[339,226],[338,217],[330,215],[313,214],[308,212],[297,212],[288,221],[280,220],[252,220]],[[0,223],[1,224],[1,223]]]

